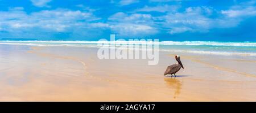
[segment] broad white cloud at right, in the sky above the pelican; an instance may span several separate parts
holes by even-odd
[[[217,11],[212,7],[205,6],[188,7],[184,12],[170,12],[167,15],[158,17],[158,19],[163,21],[160,26],[168,29],[168,33],[176,34],[183,32],[209,32],[213,28],[237,27],[244,19],[238,17],[254,15],[254,11],[251,8],[240,10],[241,12],[239,13],[229,11],[224,13],[224,11]],[[244,11],[250,12],[245,13]],[[217,16],[212,18],[212,15]]]

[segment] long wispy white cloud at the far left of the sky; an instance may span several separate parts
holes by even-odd
[[[0,16],[0,27],[6,31],[39,28],[67,32],[74,27],[88,27],[90,21],[99,19],[90,12],[67,9],[43,10],[31,14],[20,10],[0,11]]]

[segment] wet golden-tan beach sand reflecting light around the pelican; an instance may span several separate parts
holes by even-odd
[[[0,101],[256,101],[255,56],[160,52],[148,66],[97,50],[0,45]],[[175,54],[184,69],[163,76]]]

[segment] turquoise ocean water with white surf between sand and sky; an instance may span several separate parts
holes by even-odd
[[[0,41],[1,45],[27,46],[72,46],[102,47],[98,44],[113,44],[110,41]],[[256,56],[256,42],[213,42],[213,41],[160,41],[158,44],[145,41],[115,41],[115,44],[139,46],[159,45],[159,51],[213,55]]]

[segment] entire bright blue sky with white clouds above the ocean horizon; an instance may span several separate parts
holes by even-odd
[[[256,1],[0,0],[0,38],[256,41]]]

